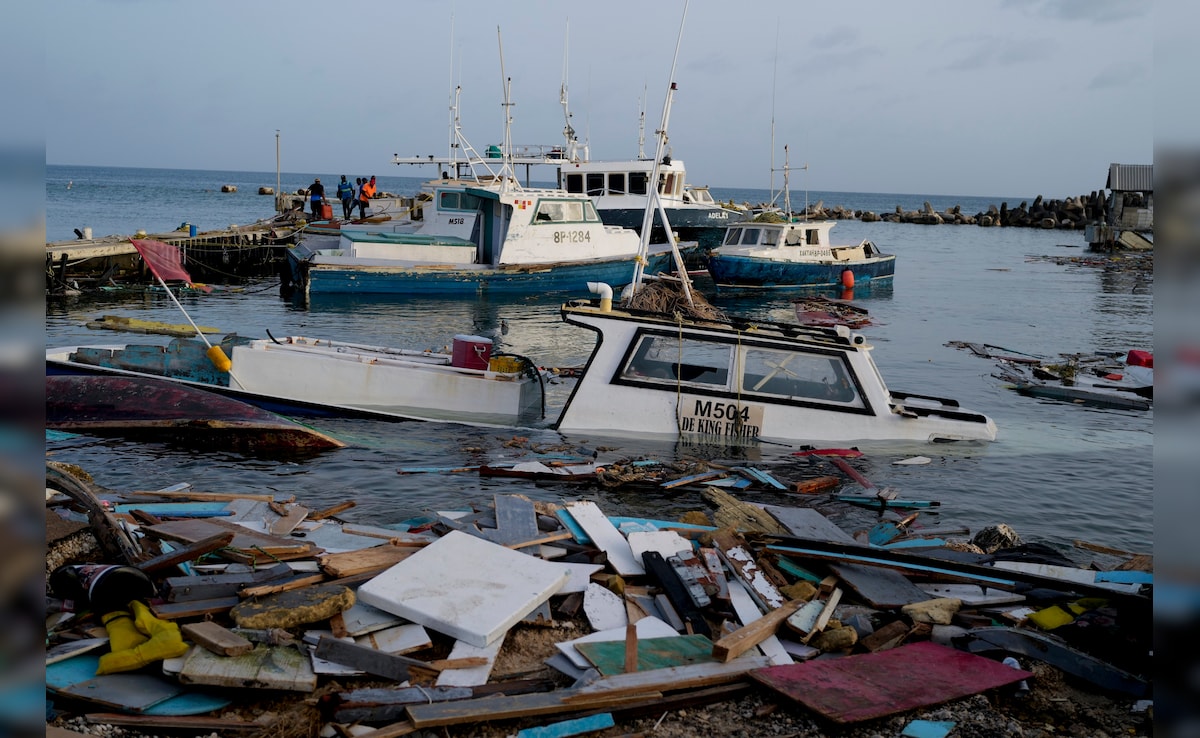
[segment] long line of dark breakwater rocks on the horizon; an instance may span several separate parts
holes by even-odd
[[[961,205],[954,205],[942,211],[937,211],[928,202],[920,210],[905,210],[896,205],[892,212],[872,212],[870,210],[854,210],[836,205],[826,208],[824,202],[810,205],[805,216],[812,220],[858,220],[864,223],[917,223],[920,226],[941,226],[943,223],[955,226],[982,226],[990,227],[1014,227],[1014,228],[1062,228],[1082,229],[1090,222],[1104,221],[1108,212],[1108,202],[1103,193],[1092,192],[1087,196],[1072,197],[1067,199],[1045,199],[1040,194],[1030,204],[1022,200],[1016,208],[1009,208],[1008,203],[1001,203],[997,208],[991,205],[986,212],[967,214],[962,212]]]

